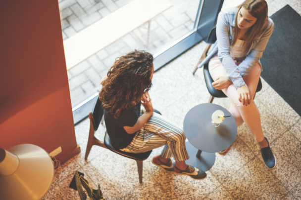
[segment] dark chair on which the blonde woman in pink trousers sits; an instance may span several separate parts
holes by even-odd
[[[195,70],[193,72],[193,75],[195,75],[196,71],[198,70],[198,65],[201,63],[201,61],[206,58],[210,46],[215,41],[216,41],[216,27],[214,27],[213,29],[211,29],[211,31],[210,31],[210,33],[208,35],[207,46],[206,46],[204,52],[201,55],[201,58],[200,58],[197,66],[196,66],[196,68],[195,68]],[[227,97],[222,90],[217,90],[217,89],[215,89],[212,86],[212,82],[214,82],[214,80],[210,76],[209,69],[208,69],[208,63],[204,65],[203,71],[204,71],[204,78],[205,78],[206,86],[207,86],[208,92],[210,93],[210,97],[209,97],[208,103],[212,103],[214,97],[216,97],[216,98]],[[257,85],[257,88],[256,88],[256,92],[259,92],[261,89],[262,89],[262,83],[261,83],[261,80],[259,78],[258,85]],[[254,94],[254,98],[253,99],[255,99],[255,94]]]

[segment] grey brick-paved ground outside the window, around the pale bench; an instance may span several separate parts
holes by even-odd
[[[130,1],[58,0],[63,39],[74,36]],[[115,58],[134,49],[147,50],[154,54],[193,29],[200,0],[170,2],[173,4],[171,8],[151,20],[148,47],[131,32],[68,71],[73,107],[100,89],[100,80],[106,76]],[[135,32],[146,40],[147,29],[139,27]]]

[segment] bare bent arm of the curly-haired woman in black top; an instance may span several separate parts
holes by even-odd
[[[138,130],[140,130],[144,124],[151,118],[153,114],[153,108],[151,104],[151,98],[149,93],[145,93],[141,99],[143,101],[142,105],[144,106],[146,112],[138,118],[138,121],[133,127],[130,126],[123,126],[124,130],[128,134],[136,133]]]

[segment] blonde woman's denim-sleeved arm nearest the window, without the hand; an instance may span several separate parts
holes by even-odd
[[[227,22],[223,12],[218,14],[216,23],[216,38],[218,45],[218,58],[221,60],[227,74],[228,80],[231,80],[235,88],[245,85],[238,66],[230,56],[230,40]]]

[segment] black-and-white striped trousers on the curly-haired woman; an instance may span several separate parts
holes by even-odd
[[[120,150],[129,153],[144,153],[165,145],[161,156],[165,159],[173,157],[179,162],[189,159],[185,139],[181,128],[165,120],[161,115],[153,113],[136,133],[133,141]]]

